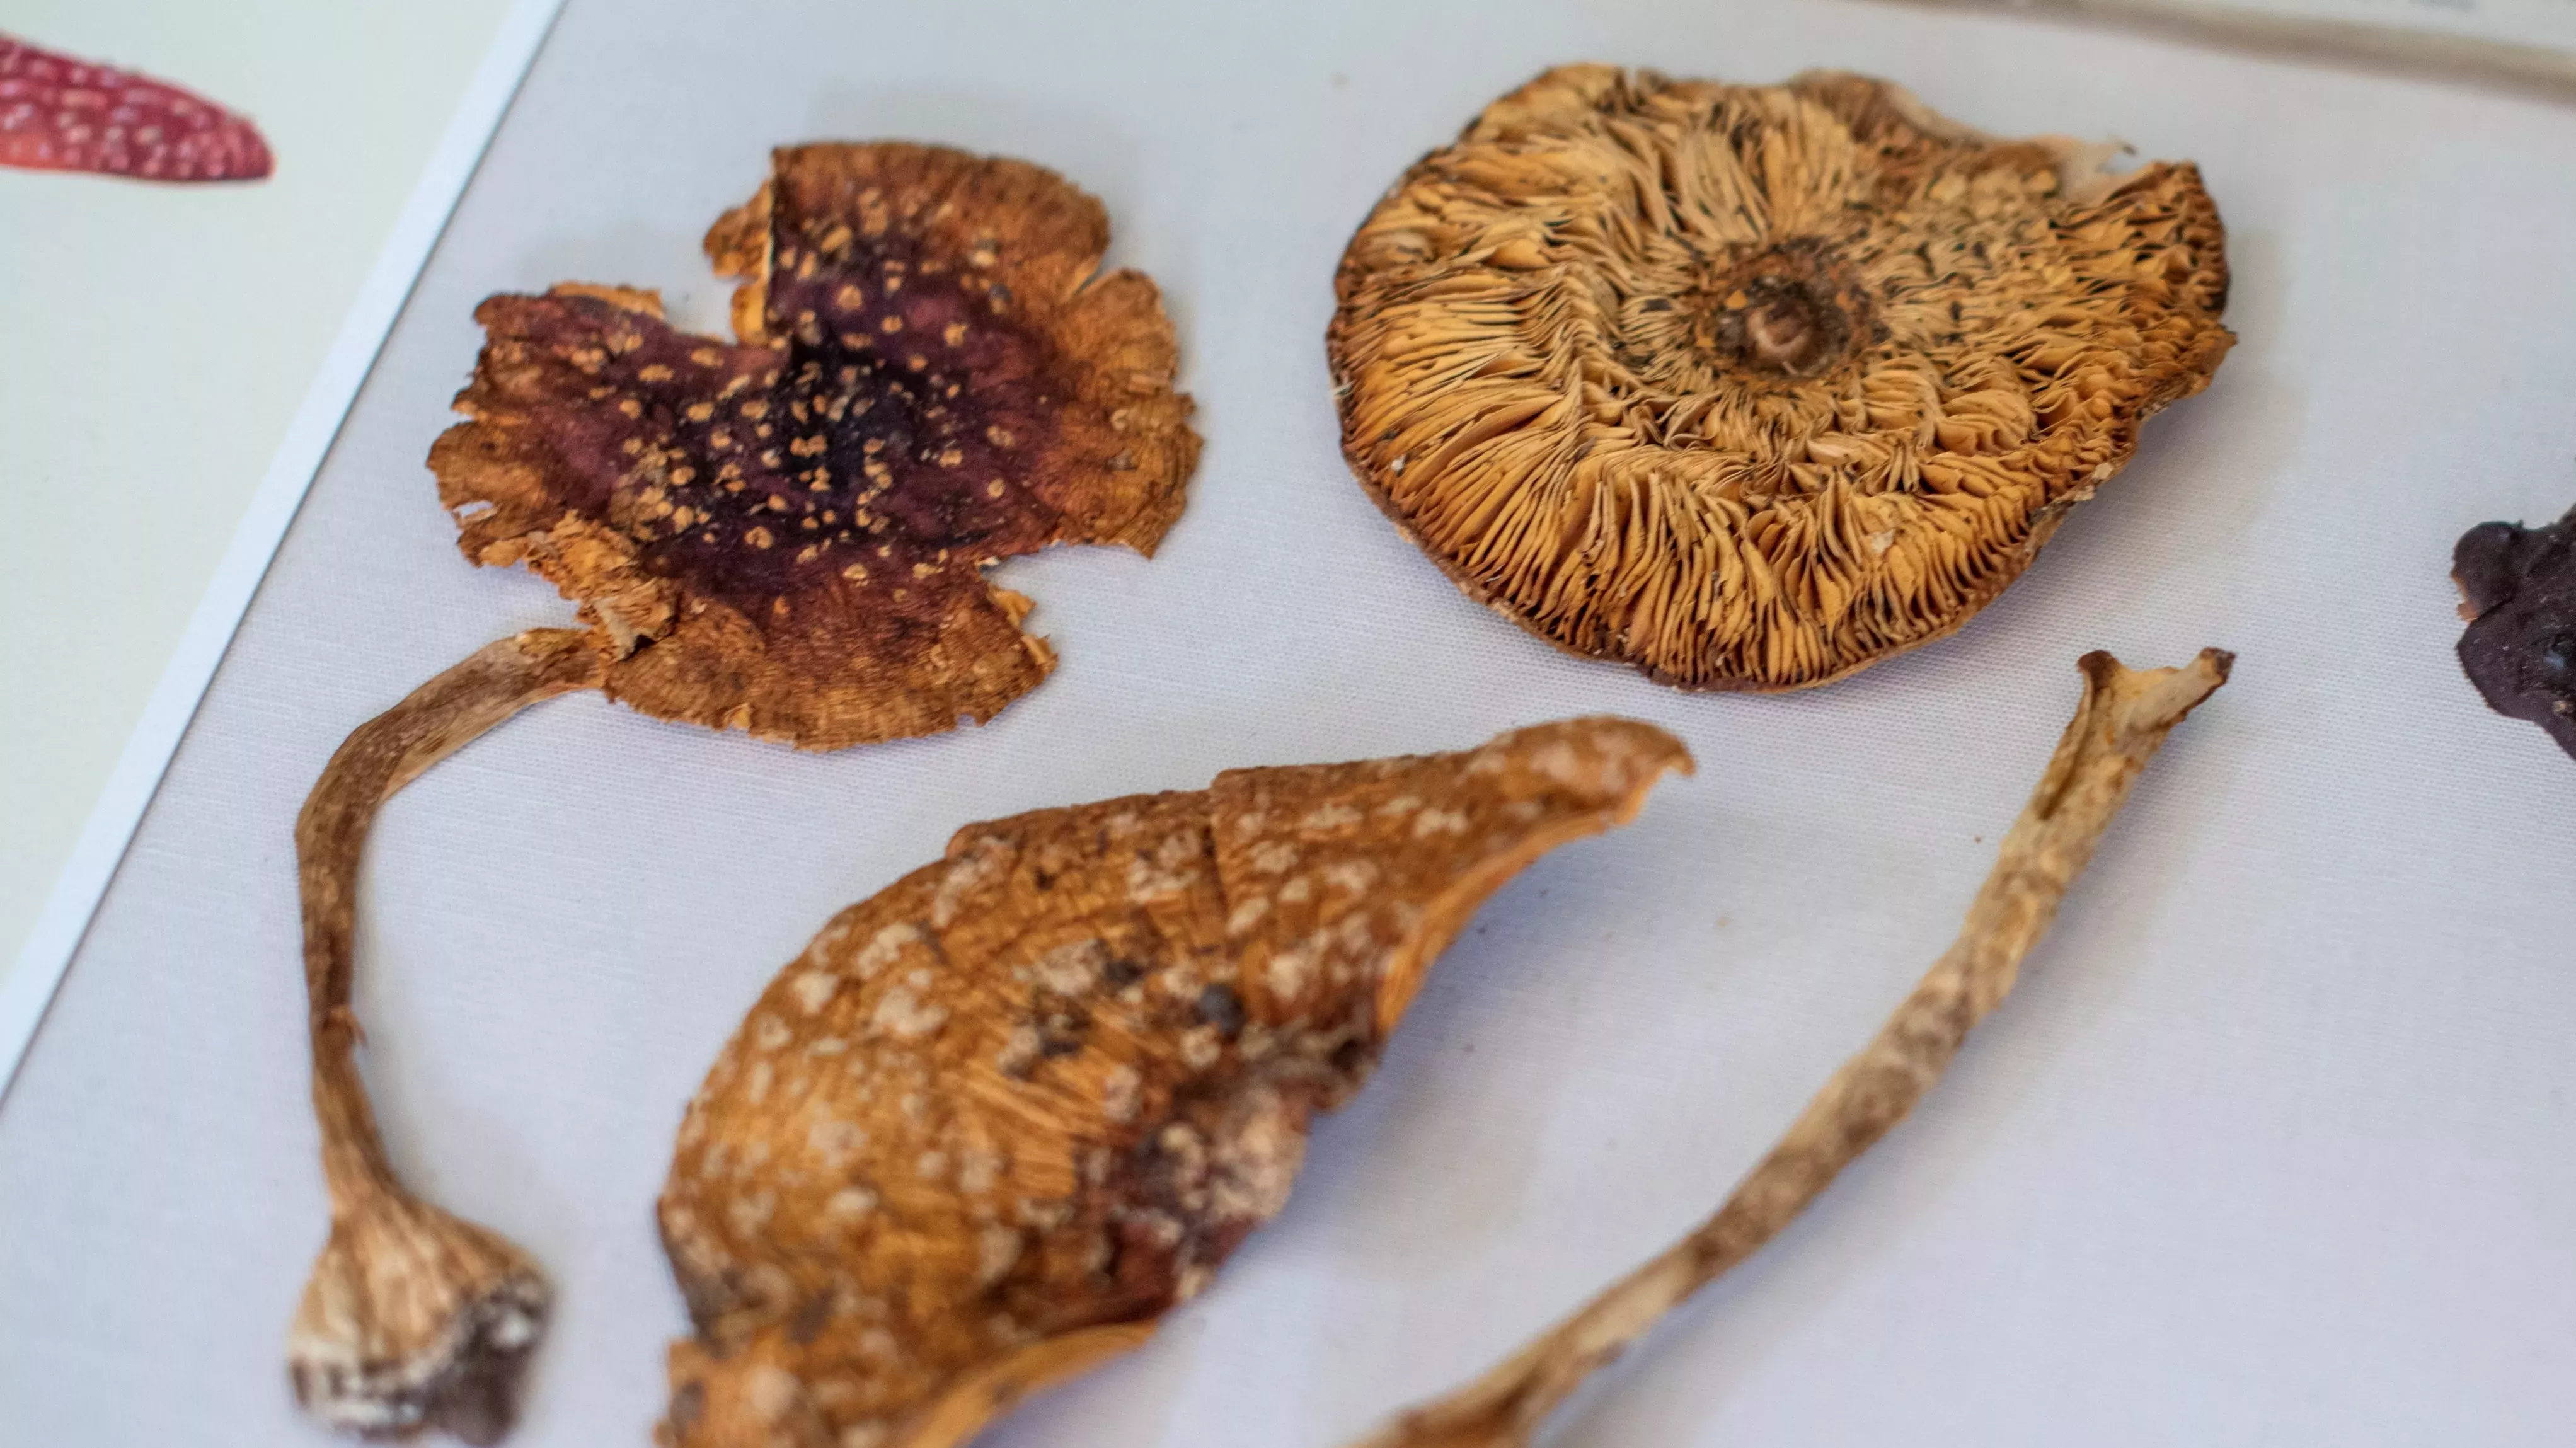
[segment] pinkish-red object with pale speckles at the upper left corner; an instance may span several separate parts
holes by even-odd
[[[250,116],[178,85],[0,36],[0,165],[134,180],[260,180]]]

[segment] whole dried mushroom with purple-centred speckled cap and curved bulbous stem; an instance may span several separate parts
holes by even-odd
[[[492,296],[430,453],[461,546],[528,564],[585,629],[502,639],[363,724],[296,824],[332,1237],[296,1396],[361,1433],[489,1440],[544,1324],[533,1262],[412,1198],[353,1067],[350,935],[376,806],[518,709],[647,714],[837,750],[989,719],[1054,665],[984,582],[1051,544],[1151,551],[1198,456],[1154,283],[1097,273],[1100,204],[914,144],[781,149],[708,232],[739,340],[649,291]]]

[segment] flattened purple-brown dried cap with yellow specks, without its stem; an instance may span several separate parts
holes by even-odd
[[[459,544],[580,600],[647,714],[814,750],[989,719],[1054,657],[981,569],[1151,551],[1198,456],[1172,322],[1105,247],[1028,162],[786,147],[706,237],[739,343],[613,286],[477,309],[430,453]]]

